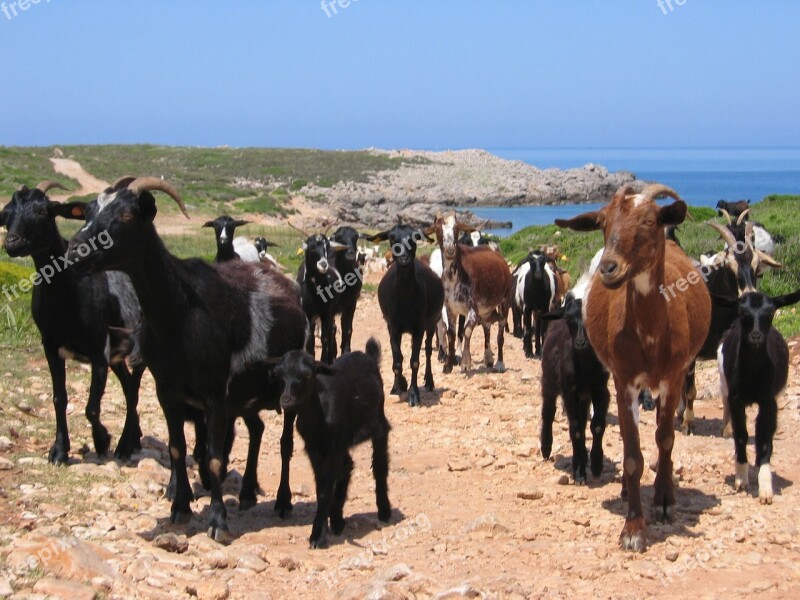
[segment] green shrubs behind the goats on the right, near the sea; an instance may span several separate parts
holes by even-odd
[[[709,219],[723,222],[716,216],[716,211],[692,207],[690,214],[695,220],[687,220],[678,231],[686,253],[697,257],[707,250],[721,249],[719,235],[705,224]],[[786,238],[785,242],[777,245],[775,251],[775,259],[784,265],[783,269],[767,273],[761,281],[761,291],[775,296],[799,289],[800,196],[768,196],[753,205],[751,217],[762,223],[773,235]],[[588,268],[592,256],[603,245],[603,236],[600,232],[577,233],[555,225],[543,225],[528,227],[503,239],[500,247],[506,258],[516,263],[527,254],[528,248],[538,248],[543,244],[558,244],[561,254],[566,257],[562,259],[561,265],[569,271],[574,282]],[[779,311],[775,325],[787,337],[800,333],[800,313],[797,307]]]

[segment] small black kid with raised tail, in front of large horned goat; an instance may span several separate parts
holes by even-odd
[[[281,406],[297,413],[297,431],[314,470],[317,512],[311,527],[312,548],[328,545],[328,519],[334,535],[344,531],[344,503],[353,459],[350,448],[372,441],[372,473],[378,518],[392,514],[389,474],[389,421],[383,410],[380,346],[367,342],[366,353],[350,352],[330,366],[314,362],[302,350],[287,352],[275,367],[284,382]]]

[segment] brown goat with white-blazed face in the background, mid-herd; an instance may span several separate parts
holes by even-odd
[[[511,271],[499,252],[484,246],[471,248],[456,243],[462,231],[471,228],[456,221],[455,214],[437,217],[427,233],[435,233],[436,241],[442,251],[444,274],[442,283],[445,291],[445,305],[448,319],[448,355],[444,372],[450,373],[455,362],[455,316],[466,317],[464,326],[464,348],[461,369],[469,373],[472,368],[470,339],[475,325],[498,323],[497,328],[497,371],[504,371],[503,364],[503,323],[508,320],[511,297]],[[489,347],[488,330],[484,349],[484,364],[494,363]]]

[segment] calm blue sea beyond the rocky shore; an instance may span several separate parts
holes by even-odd
[[[715,206],[720,199],[757,202],[770,194],[800,195],[800,148],[490,148],[493,154],[540,169],[571,169],[587,163],[631,171],[640,179],[674,189],[689,204]],[[504,236],[529,225],[569,218],[597,204],[476,208],[480,217],[511,221]]]

